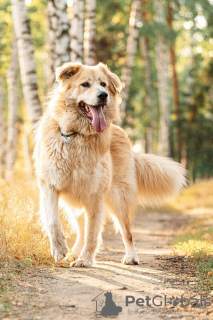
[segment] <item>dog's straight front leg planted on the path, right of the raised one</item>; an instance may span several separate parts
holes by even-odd
[[[95,251],[98,246],[98,236],[104,219],[104,201],[97,200],[90,202],[86,207],[86,225],[84,247],[78,257],[78,260],[72,262],[71,267],[91,267]]]

